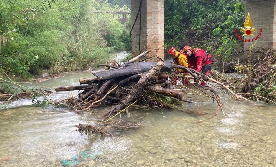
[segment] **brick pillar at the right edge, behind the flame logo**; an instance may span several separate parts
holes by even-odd
[[[253,33],[255,37],[244,36],[244,39],[250,40],[250,42],[244,42],[244,50],[248,50],[250,46],[254,45],[252,39],[259,35],[260,29],[262,32],[254,48],[276,49],[276,1],[244,0],[243,3],[245,3],[245,18],[249,12],[253,27],[256,28]]]

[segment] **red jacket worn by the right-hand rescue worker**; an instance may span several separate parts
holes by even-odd
[[[191,56],[188,56],[188,64],[191,68],[195,68],[197,72],[200,72],[202,67],[206,64],[212,64],[213,59],[209,52],[200,48],[192,49]]]

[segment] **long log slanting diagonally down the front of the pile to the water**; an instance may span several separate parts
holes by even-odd
[[[154,67],[151,68],[151,70],[143,75],[138,83],[132,87],[132,90],[130,94],[128,94],[126,97],[123,98],[123,100],[116,106],[112,107],[108,111],[108,115],[111,116],[113,113],[118,112],[125,108],[125,106],[133,99],[137,97],[137,95],[141,92],[141,89],[146,85],[146,83],[155,75],[160,73],[160,70],[164,67],[164,64],[162,61],[159,61]]]

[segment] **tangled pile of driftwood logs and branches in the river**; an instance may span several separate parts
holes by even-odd
[[[160,100],[149,98],[150,94],[157,94],[163,99],[172,97],[185,101],[183,92],[168,87],[168,72],[181,68],[196,79],[198,79],[197,76],[187,67],[177,66],[172,61],[140,62],[146,58],[147,53],[148,51],[145,51],[122,65],[118,63],[117,66],[100,65],[112,69],[93,73],[95,78],[79,79],[79,86],[57,87],[55,90],[82,90],[77,99],[68,100],[74,112],[91,110],[106,104],[115,104],[107,113],[109,117],[124,110],[134,102],[151,106],[160,105],[158,104]]]

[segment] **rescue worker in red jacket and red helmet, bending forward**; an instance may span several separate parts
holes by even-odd
[[[195,69],[197,72],[202,70],[201,73],[206,74],[207,77],[214,64],[211,54],[208,51],[204,51],[200,48],[192,49],[190,46],[185,46],[183,51],[188,56],[187,60],[191,68]],[[205,81],[207,81],[207,78],[205,78]],[[201,82],[200,84],[202,86],[206,86],[204,82]]]

